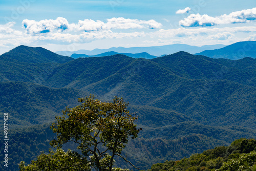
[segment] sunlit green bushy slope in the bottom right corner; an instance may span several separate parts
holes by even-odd
[[[208,149],[181,161],[154,164],[148,171],[159,170],[252,170],[256,169],[256,140],[239,139],[229,146]]]

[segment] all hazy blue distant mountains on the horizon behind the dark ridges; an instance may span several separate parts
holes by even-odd
[[[256,58],[256,41],[241,41],[232,45],[211,45],[211,46],[189,46],[184,44],[174,44],[159,47],[134,47],[134,48],[110,48],[94,49],[92,51],[79,50],[76,52],[59,51],[60,55],[79,57],[102,57],[116,54],[123,54],[133,58],[153,59],[158,56],[173,54],[179,51],[185,51],[195,55],[203,55],[211,58],[242,59],[244,57]]]

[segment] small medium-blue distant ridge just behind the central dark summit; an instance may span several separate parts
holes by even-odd
[[[116,55],[116,54],[120,54],[120,55],[126,55],[132,58],[145,58],[145,59],[153,59],[156,58],[157,56],[153,56],[150,55],[146,52],[142,52],[142,53],[118,53],[118,52],[114,52],[114,51],[110,51],[110,52],[104,52],[101,54],[97,54],[97,55],[86,55],[86,54],[72,54],[70,57],[72,58],[79,58],[79,57],[101,57],[101,56],[111,56],[111,55]]]

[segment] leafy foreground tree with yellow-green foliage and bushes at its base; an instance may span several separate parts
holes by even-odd
[[[93,96],[80,98],[81,105],[63,111],[61,117],[56,117],[51,129],[57,133],[57,139],[51,145],[57,151],[41,154],[36,161],[20,170],[113,170],[114,157],[121,155],[122,149],[129,137],[137,137],[135,114],[130,114],[123,98],[115,97],[113,102],[101,102]],[[78,152],[64,152],[63,144],[73,142],[78,144]],[[134,166],[134,165],[133,165]],[[135,166],[134,166],[135,167]],[[115,170],[120,168],[115,168]]]

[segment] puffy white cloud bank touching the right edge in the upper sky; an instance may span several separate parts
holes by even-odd
[[[231,12],[217,17],[211,17],[206,14],[190,14],[184,20],[180,20],[182,27],[205,27],[222,24],[249,23],[256,20],[256,8]]]

